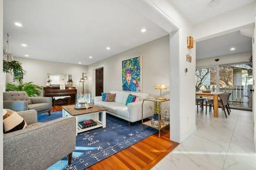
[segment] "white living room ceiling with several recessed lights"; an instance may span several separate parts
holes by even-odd
[[[7,32],[16,57],[84,65],[168,34],[119,0],[4,0]]]

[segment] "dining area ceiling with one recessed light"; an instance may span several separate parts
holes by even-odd
[[[230,51],[230,48],[236,48]],[[240,31],[197,42],[197,60],[252,51],[252,38]]]

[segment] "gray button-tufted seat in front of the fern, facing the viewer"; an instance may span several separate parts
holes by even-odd
[[[36,110],[38,114],[51,114],[52,98],[30,98],[26,91],[6,91],[3,94],[4,109],[14,111]]]

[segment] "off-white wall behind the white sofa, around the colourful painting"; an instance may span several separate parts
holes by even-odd
[[[92,93],[93,68],[104,66],[104,92],[111,90],[122,91],[122,61],[125,59],[142,56],[142,92],[159,96],[160,91],[155,90],[157,84],[165,84],[168,89],[163,90],[163,96],[169,98],[169,36],[156,39],[101,60],[88,66],[90,77],[89,89]],[[169,109],[168,109],[169,110]]]

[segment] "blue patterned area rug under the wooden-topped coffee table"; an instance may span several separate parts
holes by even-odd
[[[48,116],[48,113],[39,114],[38,122],[48,122],[61,116],[62,111],[53,112],[51,116]],[[71,165],[68,165],[68,159],[65,157],[48,169],[87,168],[156,132],[156,129],[150,127],[142,130],[140,122],[132,123],[129,127],[126,120],[106,114],[106,128],[98,128],[77,135]]]

